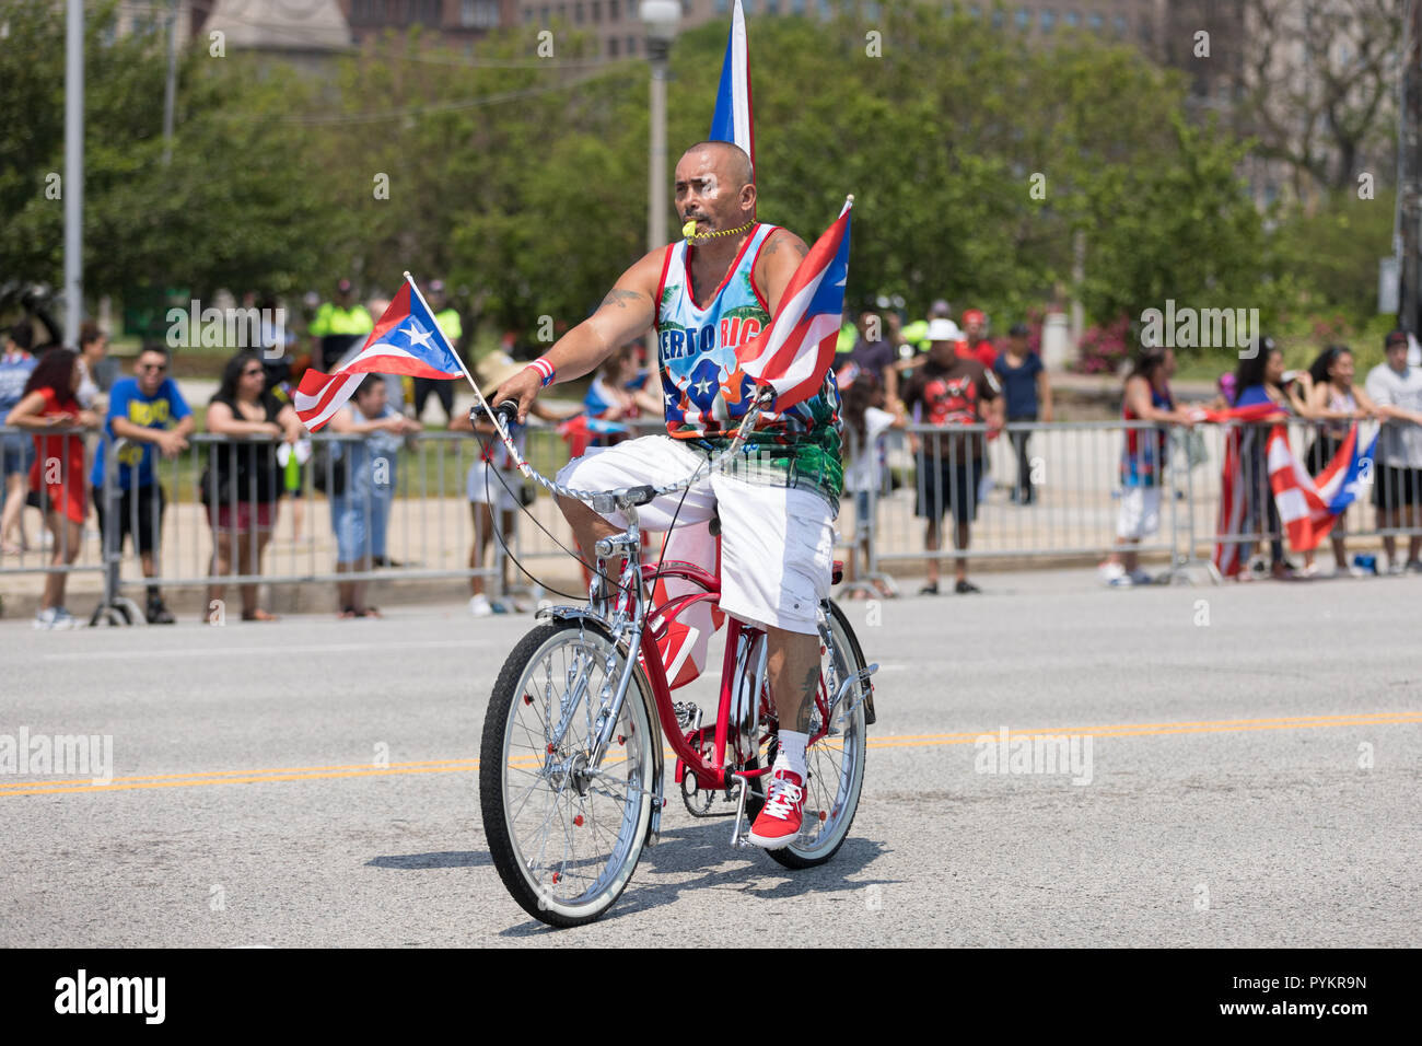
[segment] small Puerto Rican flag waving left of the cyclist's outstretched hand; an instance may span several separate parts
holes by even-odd
[[[346,406],[367,374],[444,379],[468,374],[410,273],[350,363],[334,374],[307,370],[301,376],[294,397],[296,416],[307,430],[317,431]]]

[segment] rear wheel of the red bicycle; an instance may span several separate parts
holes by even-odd
[[[820,682],[829,703],[835,700],[840,685],[865,667],[865,655],[843,611],[828,599],[820,608],[830,636],[820,653]],[[835,709],[829,733],[805,750],[805,766],[809,768],[805,781],[805,824],[792,844],[766,851],[786,868],[825,864],[849,837],[865,783],[865,703],[857,702],[857,697],[859,693],[852,687],[845,703]],[[855,710],[839,722],[850,704]],[[822,722],[823,710],[816,700],[811,713],[811,737],[819,733]],[[774,757],[772,749],[765,759]]]

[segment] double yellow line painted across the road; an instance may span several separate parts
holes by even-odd
[[[1256,730],[1307,730],[1327,726],[1398,726],[1422,723],[1422,712],[1364,712],[1352,716],[1288,716],[1280,719],[1220,719],[1180,723],[1122,723],[1096,727],[1054,727],[1011,730],[1011,737],[1078,736],[1078,737],[1165,737],[1189,733],[1249,733]],[[998,727],[1000,729],[1000,727]],[[995,739],[995,730],[956,734],[899,734],[867,741],[870,749],[919,749],[946,744],[973,744],[983,737]],[[664,747],[670,760],[675,753]],[[518,756],[509,766],[536,766],[536,753]],[[0,798],[10,796],[57,796],[65,793],[128,791],[135,788],[196,788],[210,784],[262,784],[266,781],[317,781],[338,777],[398,777],[405,774],[439,774],[478,770],[476,759],[435,759],[419,763],[391,763],[388,767],[370,764],[283,767],[273,770],[210,770],[193,774],[152,774],[146,777],[117,777],[109,784],[91,781],[18,781],[0,784]]]

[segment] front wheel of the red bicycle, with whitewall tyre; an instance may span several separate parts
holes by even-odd
[[[550,926],[606,912],[647,841],[657,739],[636,663],[611,744],[589,763],[626,667],[602,628],[542,625],[509,655],[489,700],[479,759],[489,854],[513,899]]]

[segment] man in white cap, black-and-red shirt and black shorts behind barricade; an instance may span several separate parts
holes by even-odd
[[[939,319],[929,324],[929,359],[909,379],[903,401],[921,408],[923,421],[944,433],[920,437],[919,497],[914,514],[927,519],[924,548],[939,551],[939,527],[946,512],[953,512],[954,548],[968,546],[973,519],[977,517],[978,485],[983,480],[985,441],[983,433],[953,433],[958,426],[987,423],[1003,427],[1003,398],[993,371],[954,350],[954,326]],[[954,592],[964,595],[981,589],[968,581],[967,558],[954,561]],[[927,583],[920,595],[939,593],[939,558],[927,561]]]

